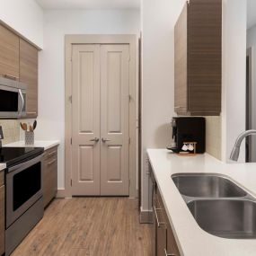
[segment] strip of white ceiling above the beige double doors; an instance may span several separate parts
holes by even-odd
[[[140,0],[36,0],[36,1],[44,9],[139,9],[140,8]]]

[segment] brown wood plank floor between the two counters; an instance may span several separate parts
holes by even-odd
[[[12,256],[152,256],[151,228],[135,199],[56,199]]]

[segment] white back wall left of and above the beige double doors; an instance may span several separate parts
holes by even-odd
[[[64,188],[65,34],[139,34],[137,10],[46,11],[39,60],[37,139],[59,139],[58,188]]]

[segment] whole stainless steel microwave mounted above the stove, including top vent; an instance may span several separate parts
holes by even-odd
[[[0,119],[26,116],[27,85],[0,77]]]

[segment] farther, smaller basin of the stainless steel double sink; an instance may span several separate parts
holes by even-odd
[[[179,173],[172,175],[181,195],[194,198],[237,198],[247,192],[218,174]]]

